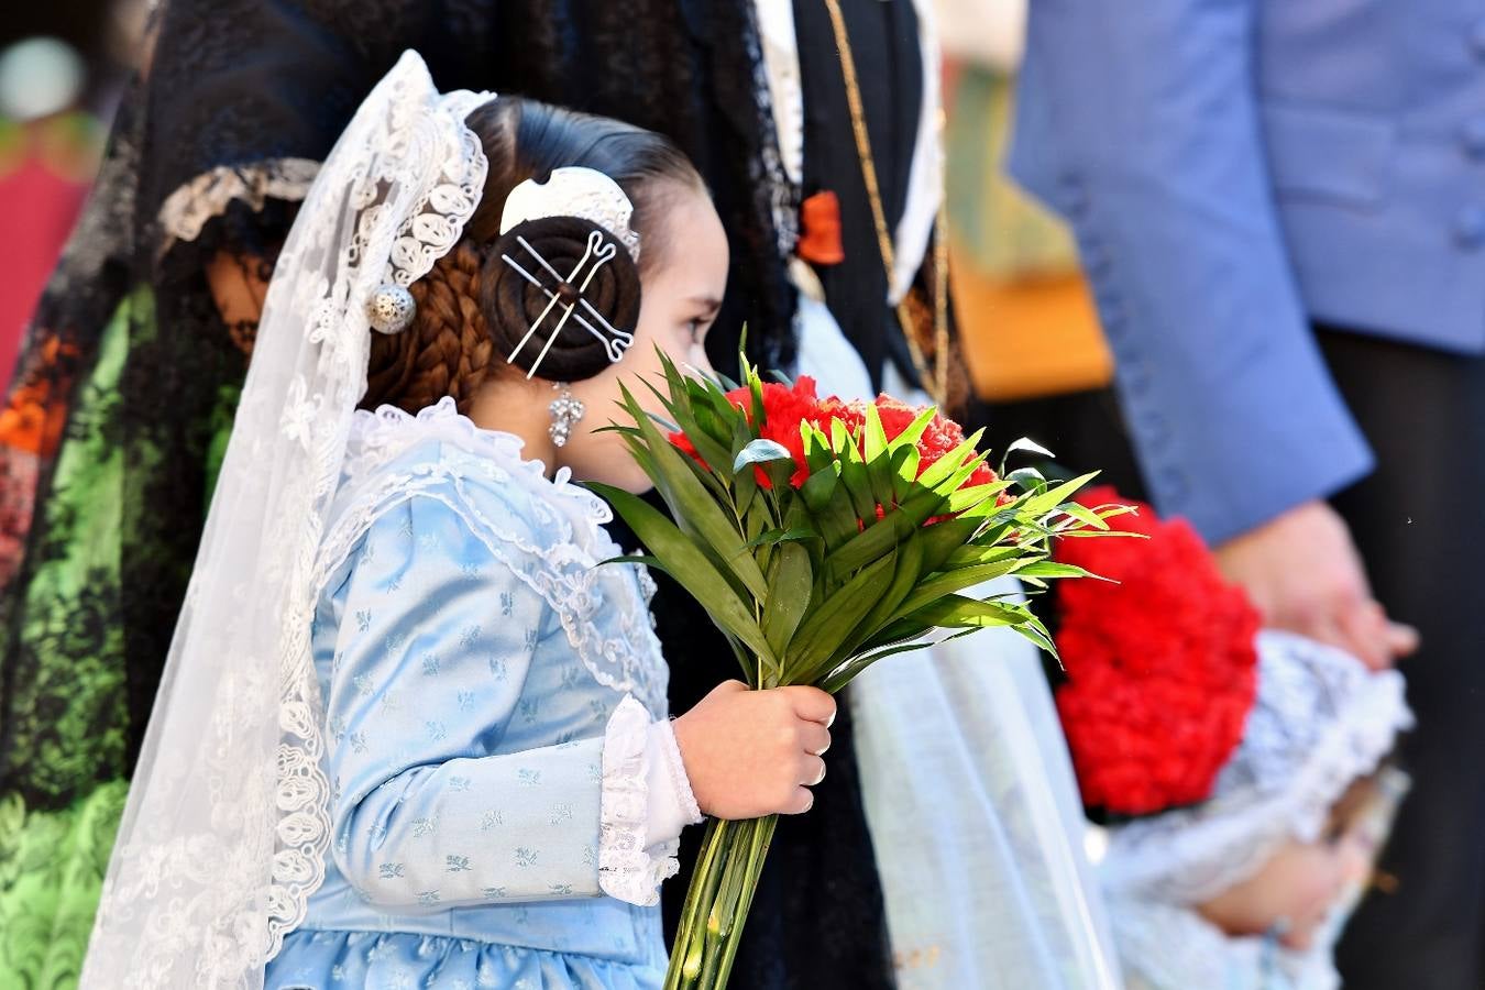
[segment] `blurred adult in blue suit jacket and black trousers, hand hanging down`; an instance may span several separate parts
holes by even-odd
[[[1075,227],[1145,490],[1267,625],[1374,668],[1421,631],[1353,990],[1485,986],[1482,169],[1478,1],[1029,6],[1011,171]]]

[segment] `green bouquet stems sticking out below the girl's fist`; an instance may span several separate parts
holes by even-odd
[[[777,815],[707,822],[665,972],[665,990],[728,986],[742,923],[777,825]]]

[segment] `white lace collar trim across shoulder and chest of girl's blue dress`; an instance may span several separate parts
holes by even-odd
[[[431,442],[443,445],[437,454],[414,454]],[[521,460],[520,438],[480,429],[448,398],[417,416],[394,407],[358,413],[345,471],[316,588],[380,515],[414,496],[438,499],[557,613],[594,680],[664,714],[668,668],[644,598],[647,574],[639,566],[600,567],[619,555],[601,528],[612,512],[566,471],[548,479],[541,462]],[[508,518],[517,494],[529,499],[536,525]]]

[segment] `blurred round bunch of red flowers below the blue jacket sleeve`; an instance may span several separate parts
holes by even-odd
[[[1112,488],[1086,505],[1126,502]],[[1084,804],[1148,815],[1212,794],[1258,689],[1259,613],[1184,519],[1118,517],[1148,540],[1062,539],[1056,560],[1120,583],[1057,588],[1057,692]]]

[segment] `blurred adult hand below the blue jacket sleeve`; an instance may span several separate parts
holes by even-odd
[[[1372,598],[1345,521],[1305,502],[1216,548],[1218,564],[1264,613],[1264,623],[1338,646],[1372,669],[1418,649],[1412,626]]]

